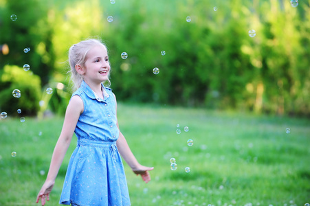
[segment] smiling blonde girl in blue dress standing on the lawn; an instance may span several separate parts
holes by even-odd
[[[73,133],[78,144],[69,161],[60,204],[131,205],[122,165],[124,158],[144,182],[149,170],[140,165],[118,127],[116,99],[102,82],[109,80],[107,47],[96,39],[81,41],[69,49],[71,80],[77,89],[67,106],[60,137],[54,148],[47,179],[36,203],[45,205]]]

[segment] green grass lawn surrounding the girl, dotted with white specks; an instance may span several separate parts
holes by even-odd
[[[118,105],[118,119],[138,161],[155,167],[145,184],[124,163],[132,205],[310,202],[310,119],[128,104]],[[62,124],[62,117],[0,120],[0,205],[36,205]],[[193,146],[187,146],[188,139]],[[76,137],[47,205],[58,205],[75,146]],[[171,157],[177,160],[175,171]]]

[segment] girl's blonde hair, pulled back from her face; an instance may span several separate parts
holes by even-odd
[[[76,91],[76,89],[80,88],[80,84],[82,84],[83,81],[83,76],[76,71],[76,65],[84,67],[87,53],[96,45],[102,45],[107,49],[107,46],[104,43],[102,43],[102,41],[95,38],[80,41],[79,43],[76,43],[70,47],[68,55],[70,65],[69,73],[71,73],[71,81],[73,82],[73,88],[72,88],[73,91]],[[108,86],[111,85],[111,81],[109,80],[109,78],[110,74],[107,80]]]

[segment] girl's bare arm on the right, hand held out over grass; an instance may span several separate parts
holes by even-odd
[[[116,99],[115,99],[116,102]],[[117,106],[116,106],[116,111],[117,111]],[[117,122],[118,126],[118,122]],[[120,131],[120,127],[118,126],[118,130]],[[148,183],[151,181],[151,176],[148,173],[149,170],[153,170],[154,168],[149,168],[144,165],[140,165],[138,163],[137,159],[135,159],[135,156],[133,155],[133,152],[131,152],[131,149],[129,148],[129,145],[127,144],[127,141],[122,135],[121,132],[119,132],[119,137],[118,141],[116,141],[116,145],[118,146],[118,151],[120,152],[120,155],[124,158],[124,161],[131,167],[131,170],[135,172],[137,175],[141,175],[142,179],[145,183]]]

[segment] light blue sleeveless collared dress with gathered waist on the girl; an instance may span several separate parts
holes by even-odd
[[[72,96],[78,95],[84,111],[74,133],[78,137],[71,155],[60,204],[64,205],[131,205],[126,176],[116,140],[115,97],[102,85],[104,100],[98,98],[83,81]]]

